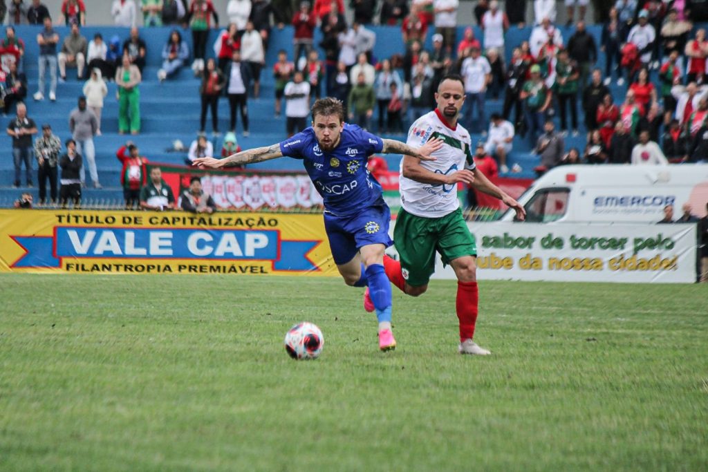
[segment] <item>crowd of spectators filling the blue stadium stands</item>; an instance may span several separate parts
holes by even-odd
[[[530,36],[508,45],[509,28],[525,25],[527,3],[532,3],[534,13]],[[81,27],[86,25],[90,4],[82,0],[64,0],[60,11],[53,12],[58,24],[71,28],[64,38],[55,32],[52,12],[40,0],[12,0],[6,11],[0,8],[7,24],[0,48],[3,57],[10,58],[3,61],[0,93],[4,112],[16,114],[7,128],[13,137],[13,184],[21,185],[23,163],[25,182],[33,184],[31,168],[36,159],[39,202],[55,200],[55,192],[47,199],[45,180],[52,185],[52,173],[61,167],[61,159],[42,159],[38,154],[36,143],[42,137],[35,137],[37,126],[26,108],[18,105],[28,96],[45,100],[47,74],[48,98],[56,100],[57,82],[67,80],[67,68],[76,68],[79,79],[86,80],[83,105],[79,100],[71,115],[72,139],[82,163],[79,185],[86,186],[84,167],[88,167],[92,185],[101,188],[93,137],[101,134],[105,81],[118,86],[118,132],[138,139],[139,88],[147,65],[147,46],[141,35],[146,28],[161,25],[173,25],[174,30],[162,50],[159,80],[175,80],[176,72],[191,60],[191,69],[201,79],[200,122],[195,124],[200,134],[205,134],[210,111],[212,132],[222,136],[219,101],[227,98],[230,120],[222,140],[224,148],[238,145],[237,111],[242,135],[249,136],[247,104],[249,98],[261,97],[262,74],[275,77],[273,113],[285,113],[285,134],[292,135],[307,125],[311,100],[324,95],[342,100],[351,122],[378,132],[403,133],[418,115],[433,108],[440,78],[458,73],[466,92],[462,124],[481,136],[479,158],[491,156],[503,174],[520,171],[518,165],[507,166],[516,134],[530,140],[538,156],[538,175],[564,163],[707,159],[708,40],[702,28],[694,28],[691,2],[617,0],[603,21],[599,43],[586,30],[586,4],[565,2],[569,19],[564,28],[571,33],[565,41],[561,27],[554,23],[556,1],[508,0],[506,11],[498,1],[476,1],[474,16],[482,37],[476,38],[468,25],[462,38],[457,38],[457,27],[464,26],[457,22],[458,0],[383,0],[380,8],[376,0],[351,0],[350,23],[343,0],[314,0],[312,4],[229,0],[223,22],[227,26],[214,45],[207,45],[209,31],[218,30],[224,17],[220,18],[211,0],[115,0],[111,8],[115,25],[130,28],[123,42],[117,36],[104,40],[101,33],[91,40],[84,37]],[[142,29],[137,27],[141,13]],[[18,38],[13,25],[28,23],[40,25],[36,38]],[[294,31],[292,50],[280,51],[277,62],[266,64],[272,28],[287,23]],[[399,27],[405,49],[392,57],[376,57],[372,23]],[[321,40],[316,44],[318,28]],[[186,31],[191,34],[191,48],[183,40]],[[37,91],[27,90],[23,74],[29,41],[36,41],[40,49]],[[603,62],[604,71],[599,68]],[[613,91],[615,95],[622,92],[621,103],[615,103]],[[501,113],[487,116],[489,100],[503,100]],[[27,105],[31,108],[31,103]],[[143,116],[149,113],[142,110]],[[568,137],[581,133],[586,137],[584,148],[567,149]],[[207,147],[199,148],[201,154],[190,152],[188,162],[213,154]],[[67,179],[62,174],[54,180]]]

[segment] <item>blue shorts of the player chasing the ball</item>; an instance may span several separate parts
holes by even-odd
[[[329,238],[329,247],[336,265],[348,263],[367,244],[392,246],[389,237],[391,211],[382,203],[362,209],[350,217],[338,217],[324,213],[324,229]]]

